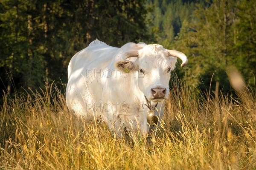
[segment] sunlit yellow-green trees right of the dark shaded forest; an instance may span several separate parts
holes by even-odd
[[[212,79],[212,86],[219,85],[227,94],[230,68],[236,67],[246,85],[254,87],[256,3],[153,0],[149,4],[155,9],[151,14],[154,24],[149,25],[155,39],[189,58],[185,69],[177,67],[186,83],[205,90]]]

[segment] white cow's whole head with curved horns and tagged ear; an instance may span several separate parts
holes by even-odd
[[[137,57],[132,62],[129,57]],[[153,102],[168,99],[170,72],[175,69],[177,58],[182,59],[181,67],[187,63],[187,57],[180,51],[167,50],[162,45],[144,45],[139,50],[126,52],[116,67],[124,71],[138,71],[140,91]]]

